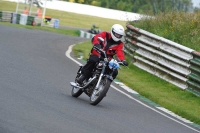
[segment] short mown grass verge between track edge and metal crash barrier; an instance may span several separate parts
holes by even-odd
[[[75,45],[73,51],[77,56],[78,53],[83,53],[83,59],[86,60],[91,48],[92,45],[88,41]],[[182,91],[180,88],[141,70],[130,63],[128,57],[126,58],[129,60],[129,69],[122,67],[117,76],[118,80],[155,103],[194,123],[200,124],[199,97],[190,92]]]

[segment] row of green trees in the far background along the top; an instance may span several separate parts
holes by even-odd
[[[192,12],[191,0],[64,0],[109,9],[140,14],[168,12],[172,10]]]

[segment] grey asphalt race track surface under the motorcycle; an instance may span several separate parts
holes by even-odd
[[[97,106],[73,98],[79,66],[65,52],[85,40],[0,25],[0,133],[197,132],[113,88]]]

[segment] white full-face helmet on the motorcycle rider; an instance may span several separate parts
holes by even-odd
[[[114,24],[111,27],[111,37],[114,41],[120,41],[124,36],[124,28],[120,24]]]

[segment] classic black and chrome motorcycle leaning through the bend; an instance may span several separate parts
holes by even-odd
[[[101,37],[98,37],[98,40],[101,43],[104,41]],[[77,98],[84,92],[90,97],[90,104],[97,105],[106,96],[110,88],[113,81],[113,70],[118,69],[119,65],[124,64],[122,62],[117,62],[115,59],[109,61],[105,51],[95,46],[93,48],[101,53],[103,59],[96,64],[96,67],[92,71],[92,76],[84,80],[82,85],[77,83],[77,79],[81,76],[81,69],[83,68],[83,66],[80,66],[75,82],[70,82],[70,84],[72,86],[71,95],[73,97]]]

